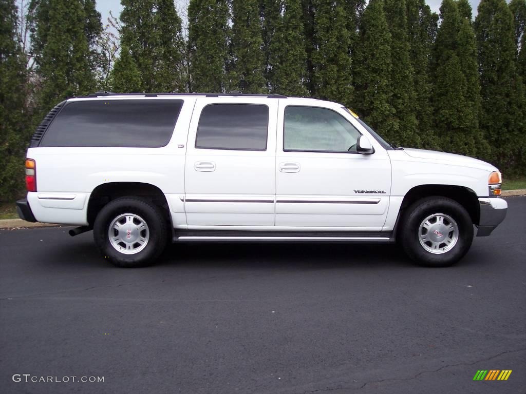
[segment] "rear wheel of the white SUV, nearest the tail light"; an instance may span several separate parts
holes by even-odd
[[[154,263],[166,247],[167,232],[167,221],[155,205],[131,197],[106,204],[93,226],[100,253],[117,267],[124,268]]]

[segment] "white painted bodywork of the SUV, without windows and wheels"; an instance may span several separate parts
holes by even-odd
[[[89,196],[98,185],[143,182],[164,193],[175,229],[390,232],[404,195],[415,186],[458,185],[488,197],[488,176],[497,170],[456,154],[386,150],[333,102],[250,96],[162,98],[184,100],[165,147],[29,148],[27,157],[36,161],[37,192],[29,192],[27,200],[36,220],[87,225]],[[201,110],[217,102],[265,103],[270,116],[267,150],[195,148]],[[284,151],[284,110],[289,105],[338,112],[368,137],[375,153]],[[356,192],[360,190],[378,193]]]

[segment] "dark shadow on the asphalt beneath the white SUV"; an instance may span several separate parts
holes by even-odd
[[[90,233],[76,236],[74,242],[49,246],[39,260],[52,265],[113,267],[100,255]],[[454,267],[480,266],[483,261],[484,253],[471,248]],[[167,246],[155,266],[301,270],[412,267],[414,263],[396,244],[175,243]]]

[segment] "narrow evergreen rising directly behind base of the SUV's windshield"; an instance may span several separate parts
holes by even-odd
[[[387,0],[386,18],[391,33],[391,106],[396,111],[397,129],[391,142],[397,145],[420,147],[417,130],[416,91],[414,70],[410,60],[409,31],[405,0]]]

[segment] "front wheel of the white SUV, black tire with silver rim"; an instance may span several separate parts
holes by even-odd
[[[473,222],[458,202],[433,196],[409,206],[398,233],[403,250],[418,265],[448,267],[468,253]]]

